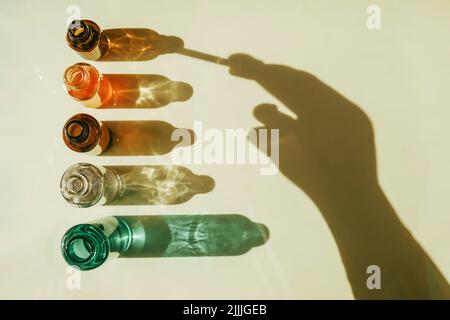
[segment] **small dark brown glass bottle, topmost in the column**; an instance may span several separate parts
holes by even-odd
[[[102,56],[100,27],[91,20],[74,20],[70,24],[66,40],[69,46],[80,56],[88,60],[97,60]]]

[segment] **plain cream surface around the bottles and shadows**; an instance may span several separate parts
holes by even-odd
[[[103,4],[100,4],[103,3]],[[450,278],[450,2],[376,1],[382,29],[366,28],[372,1],[2,1],[0,298],[339,298],[352,293],[320,213],[282,175],[258,167],[190,166],[212,193],[175,206],[70,207],[59,179],[76,162],[160,164],[170,156],[92,158],[67,149],[61,127],[88,111],[62,89],[82,61],[66,45],[69,4],[104,29],[152,28],[186,47],[227,57],[244,52],[307,70],[359,105],[376,133],[381,184],[397,213]],[[105,73],[162,74],[194,96],[158,110],[95,110],[98,119],[156,119],[177,127],[251,128],[260,103],[281,104],[226,67],[179,55],[93,63]],[[74,224],[113,214],[241,213],[265,223],[263,247],[232,258],[119,259],[66,288],[60,239]]]

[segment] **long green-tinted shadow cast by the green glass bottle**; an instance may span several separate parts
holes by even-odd
[[[117,218],[134,231],[119,258],[238,256],[269,239],[264,224],[238,214]]]

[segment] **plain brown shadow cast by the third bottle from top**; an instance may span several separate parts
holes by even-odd
[[[190,139],[172,140],[172,134],[178,129],[165,121],[103,121],[103,124],[109,129],[110,145],[99,156],[164,155],[195,141],[194,131],[190,129],[183,129]]]

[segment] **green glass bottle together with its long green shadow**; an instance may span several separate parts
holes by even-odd
[[[112,257],[236,256],[264,244],[268,228],[237,214],[113,216],[64,235],[69,265],[95,269]]]

